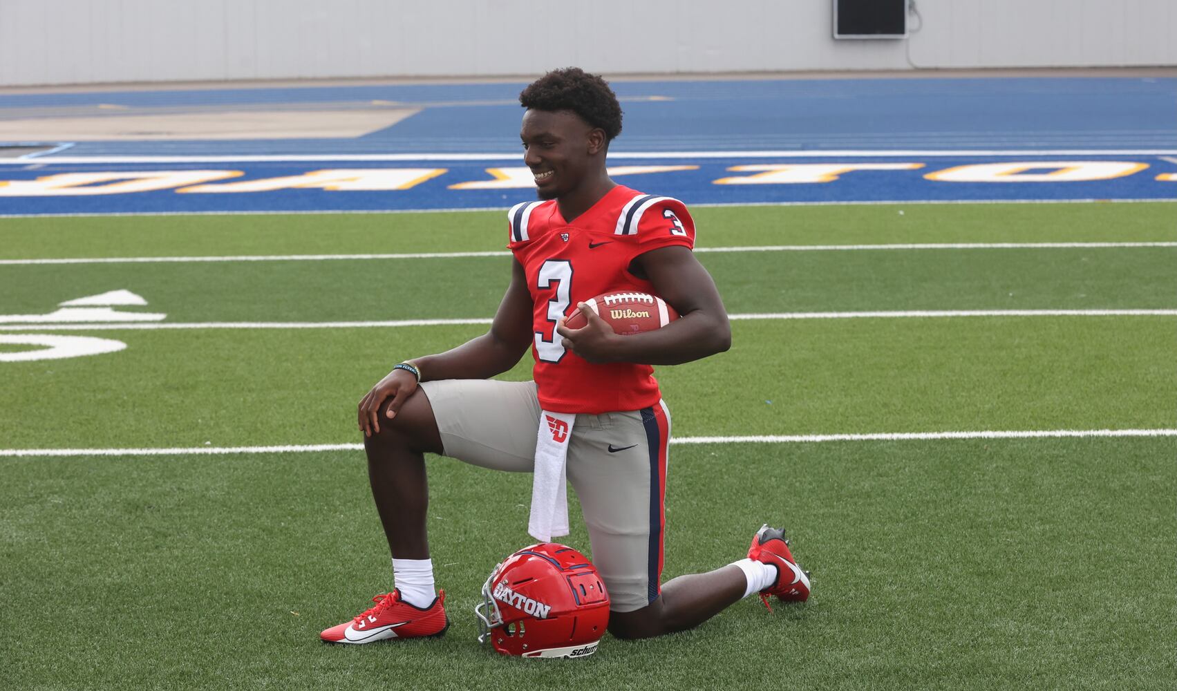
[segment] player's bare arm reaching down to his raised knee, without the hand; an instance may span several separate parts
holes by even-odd
[[[531,347],[531,294],[523,266],[512,261],[511,285],[490,331],[444,353],[413,358],[413,363],[423,380],[487,379],[513,367]]]

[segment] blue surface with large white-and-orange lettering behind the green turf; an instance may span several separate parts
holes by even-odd
[[[492,180],[488,168],[523,165],[516,100],[523,86],[0,95],[6,120],[419,109],[355,138],[49,142],[62,146],[0,159],[0,215],[507,207],[531,198],[531,191],[453,186]],[[612,145],[611,165],[686,166],[617,180],[687,204],[1177,198],[1177,79],[617,81],[613,87],[625,128]],[[814,166],[830,164],[892,166],[846,170],[816,181]],[[777,166],[777,175],[732,170],[743,166]],[[400,190],[354,173],[403,168],[428,173]],[[145,188],[128,182],[149,174],[169,180],[168,174],[185,171],[210,171],[211,180],[198,190],[165,181],[161,188],[127,191]],[[331,174],[352,174],[366,180],[353,186],[365,188],[293,186],[314,171],[350,171]],[[77,173],[100,175],[60,177]],[[760,184],[730,184],[758,173]],[[292,186],[213,190],[274,178]]]

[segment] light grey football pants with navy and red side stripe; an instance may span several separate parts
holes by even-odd
[[[533,470],[540,414],[534,381],[451,379],[421,388],[445,456],[494,470]],[[669,440],[670,412],[661,401],[643,411],[580,413],[572,428],[568,481],[580,499],[593,565],[617,612],[640,610],[658,597]],[[519,529],[526,533],[525,516]]]

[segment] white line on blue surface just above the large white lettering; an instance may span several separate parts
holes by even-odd
[[[610,152],[614,159],[818,159],[818,158],[910,158],[910,157],[1072,157],[1072,155],[1175,155],[1173,148],[1011,148],[1011,150],[779,150],[779,151],[636,151]],[[358,153],[358,154],[258,154],[258,155],[41,155],[0,159],[0,165],[29,164],[262,164],[322,161],[517,161],[519,152],[510,153]]]

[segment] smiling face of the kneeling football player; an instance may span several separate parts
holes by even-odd
[[[572,111],[528,109],[519,138],[540,199],[566,197],[604,174],[605,133]]]

